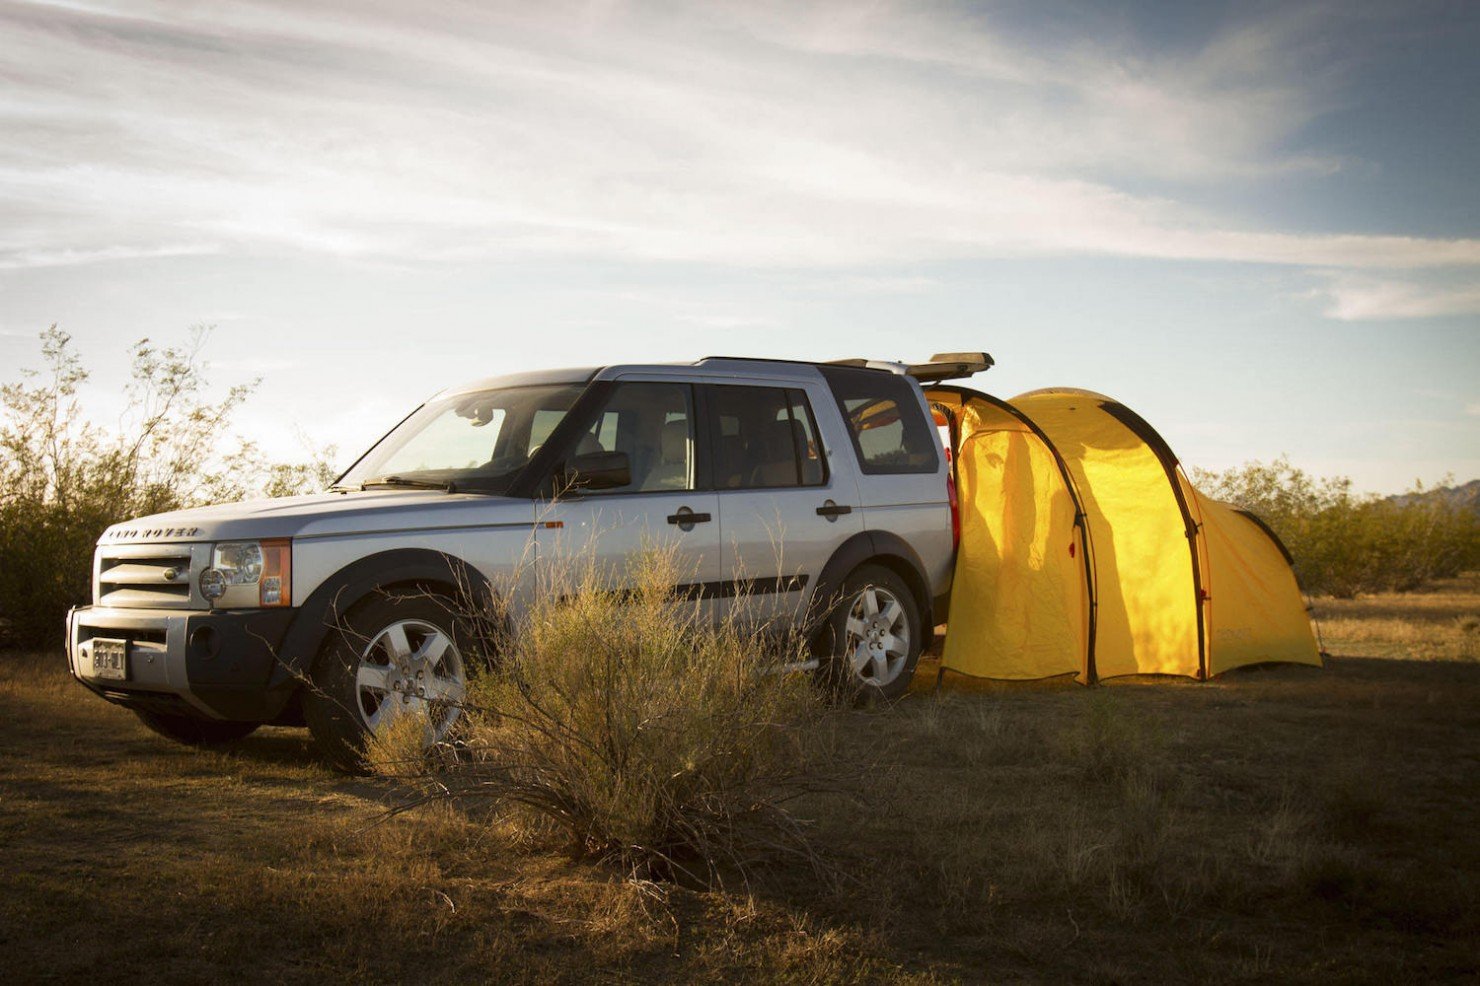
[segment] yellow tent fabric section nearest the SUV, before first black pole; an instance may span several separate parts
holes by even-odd
[[[1089,598],[1073,494],[1054,453],[1008,409],[961,409],[961,554],[946,662],[965,674],[1082,674]],[[977,588],[990,591],[975,591]]]

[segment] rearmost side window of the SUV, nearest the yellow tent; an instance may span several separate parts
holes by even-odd
[[[909,380],[885,370],[818,367],[848,422],[858,466],[870,475],[934,472],[940,440]]]

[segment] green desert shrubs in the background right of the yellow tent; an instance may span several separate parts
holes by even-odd
[[[1193,480],[1273,527],[1307,592],[1406,592],[1480,566],[1480,514],[1442,490],[1362,496],[1351,480],[1313,477],[1288,459],[1197,471]]]

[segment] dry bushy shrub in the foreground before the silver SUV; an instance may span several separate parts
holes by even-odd
[[[824,702],[783,671],[801,648],[675,600],[666,552],[636,555],[620,592],[611,574],[582,563],[542,580],[472,683],[428,796],[481,801],[515,844],[642,878],[719,884],[768,862],[820,865],[786,807],[821,777]]]

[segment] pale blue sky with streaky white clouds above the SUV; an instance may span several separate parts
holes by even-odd
[[[1184,465],[1480,477],[1480,4],[0,0],[0,379],[210,324],[346,465],[444,386],[986,349]]]

